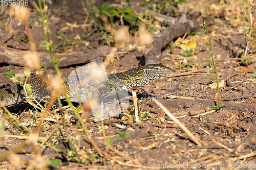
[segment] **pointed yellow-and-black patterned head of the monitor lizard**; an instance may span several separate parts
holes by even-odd
[[[151,75],[154,79],[167,78],[174,75],[174,70],[162,64],[148,64],[143,66],[145,75]]]

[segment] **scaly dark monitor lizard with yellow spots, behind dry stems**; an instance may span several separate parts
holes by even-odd
[[[166,66],[160,64],[148,64],[119,72],[117,74],[108,75],[109,80],[103,83],[84,84],[82,86],[79,84],[79,89],[93,89],[86,92],[83,91],[83,93],[85,93],[85,96],[88,99],[97,99],[104,97],[111,92],[144,86],[154,79],[167,78],[173,75],[174,70]],[[72,92],[69,91],[69,77],[62,76],[62,79],[64,80],[64,87],[70,100],[72,102],[77,102],[77,98],[75,97],[77,93],[74,90],[72,90]],[[75,77],[75,79],[77,78]],[[37,100],[48,103],[51,98],[51,89],[49,87],[50,81],[50,78],[47,76],[27,81],[27,84],[32,86],[31,96]],[[98,95],[95,95],[94,90],[97,90]],[[25,97],[26,94],[24,88],[19,84],[0,89],[0,102],[2,102],[4,106],[25,101]],[[59,98],[61,100],[65,100],[65,96],[63,94],[60,94]]]

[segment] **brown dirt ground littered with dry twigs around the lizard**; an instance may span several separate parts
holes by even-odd
[[[110,43],[102,39],[99,31],[94,31],[93,22],[87,18],[88,11],[84,10],[86,7],[83,7],[81,2],[66,1],[66,4],[62,4],[62,1],[53,1],[53,5],[49,5],[48,23],[54,44],[63,42],[57,36],[59,30],[64,30],[69,40],[80,40],[92,33],[80,43],[70,45],[68,48],[67,45],[59,45],[55,53],[82,54],[111,47]],[[118,1],[98,1],[95,5],[98,8],[106,2],[111,4]],[[132,1],[133,4],[138,2]],[[176,74],[172,78],[157,79],[144,87],[130,90],[146,90],[154,96],[195,136],[200,145],[174,123],[154,101],[140,104],[140,123],[127,116],[134,110],[133,102],[120,116],[105,119],[103,124],[94,121],[90,109],[84,109],[79,112],[84,118],[83,123],[90,137],[98,148],[108,155],[106,156],[95,150],[70,108],[64,109],[64,114],[61,111],[49,111],[47,119],[39,126],[42,112],[23,102],[7,108],[21,124],[34,133],[26,132],[1,108],[0,120],[4,128],[1,131],[0,125],[0,168],[256,169],[256,55],[253,43],[248,41],[248,34],[245,34],[242,27],[242,6],[240,2],[234,2],[220,5],[214,1],[191,0],[187,1],[186,5],[180,5],[179,11],[175,10],[177,17],[181,16],[183,7],[186,6],[186,16],[195,24],[194,34],[188,34],[184,39],[194,39],[198,49],[192,51],[191,56],[184,57],[180,54],[179,47],[171,49],[167,45],[162,49],[158,64],[174,69]],[[30,22],[34,22],[31,33],[34,43],[40,44],[44,40],[40,14],[32,3],[30,7]],[[249,8],[245,9],[249,17]],[[251,9],[255,24],[256,12]],[[3,26],[0,28],[1,47],[22,52],[30,50],[30,44],[16,36],[11,36],[3,42],[4,37],[10,34],[5,27],[10,25],[16,35],[28,38],[23,23],[11,20],[7,10],[5,7],[0,16]],[[225,107],[219,111],[213,107],[217,103],[217,88],[209,88],[209,85],[216,82],[215,74],[202,76],[210,74],[213,69],[213,65],[209,64],[211,57],[207,34],[200,26],[204,20],[209,23],[207,29],[214,36],[210,39],[212,54],[218,80],[222,84],[220,104],[224,104]],[[245,21],[248,31],[250,22],[248,19]],[[252,34],[255,35],[256,31]],[[247,48],[246,42],[250,43]],[[48,53],[39,46],[36,46],[36,50]],[[241,59],[245,51],[246,62]],[[105,55],[90,59],[88,62],[104,60]],[[106,66],[106,71],[113,74],[137,67],[143,63],[143,55],[142,50],[125,51],[120,48],[113,62]],[[61,74],[68,75],[75,68],[88,62],[63,66],[60,68]],[[190,64],[188,71],[185,63]],[[22,74],[24,68],[8,64],[2,59],[1,87],[13,85],[9,76],[5,76],[7,71],[11,69],[17,75]],[[54,74],[54,69],[48,68],[47,74]],[[32,77],[38,77],[38,74],[34,71]],[[47,137],[49,139],[44,141]],[[57,167],[54,167],[55,163]]]

